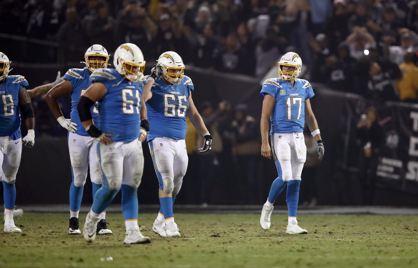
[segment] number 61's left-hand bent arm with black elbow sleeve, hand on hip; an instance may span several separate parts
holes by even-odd
[[[114,135],[103,133],[93,124],[92,113],[90,109],[96,101],[101,100],[106,95],[107,88],[102,83],[92,83],[89,88],[80,97],[79,103],[77,104],[77,111],[79,112],[81,123],[86,129],[87,133],[103,143],[104,145],[111,144],[113,141],[109,137]]]

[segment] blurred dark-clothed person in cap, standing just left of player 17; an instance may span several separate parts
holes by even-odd
[[[232,152],[237,158],[237,174],[241,200],[247,204],[253,204],[259,194],[257,184],[257,167],[260,159],[260,141],[258,139],[258,124],[254,117],[248,114],[246,104],[238,104],[234,109],[234,118],[231,123],[232,128]],[[248,195],[252,192],[251,195]]]

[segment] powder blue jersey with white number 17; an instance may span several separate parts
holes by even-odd
[[[260,95],[270,94],[276,103],[270,116],[270,133],[303,132],[305,126],[305,100],[313,97],[311,84],[295,78],[292,86],[280,78],[267,79],[261,87]]]

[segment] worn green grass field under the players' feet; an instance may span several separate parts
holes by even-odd
[[[0,267],[418,267],[418,216],[301,215],[309,233],[286,235],[286,215],[263,231],[259,215],[176,214],[183,236],[169,239],[152,232],[154,214],[139,217],[152,242],[126,246],[121,214],[89,244],[67,234],[67,214],[27,213],[22,234],[0,233]]]

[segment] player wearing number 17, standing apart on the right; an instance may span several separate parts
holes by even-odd
[[[288,205],[288,234],[306,234],[298,226],[296,211],[299,201],[301,173],[306,161],[306,145],[303,139],[303,126],[306,123],[316,139],[319,160],[324,157],[324,143],[321,140],[318,124],[311,109],[309,99],[314,96],[311,84],[296,77],[301,73],[301,57],[288,52],[279,61],[279,78],[267,79],[261,88],[264,98],[261,114],[261,154],[271,159],[273,154],[278,177],[270,188],[268,199],[263,205],[260,225],[264,230],[270,228],[270,216],[273,203],[287,185],[286,202]],[[271,121],[268,143],[269,123]]]

